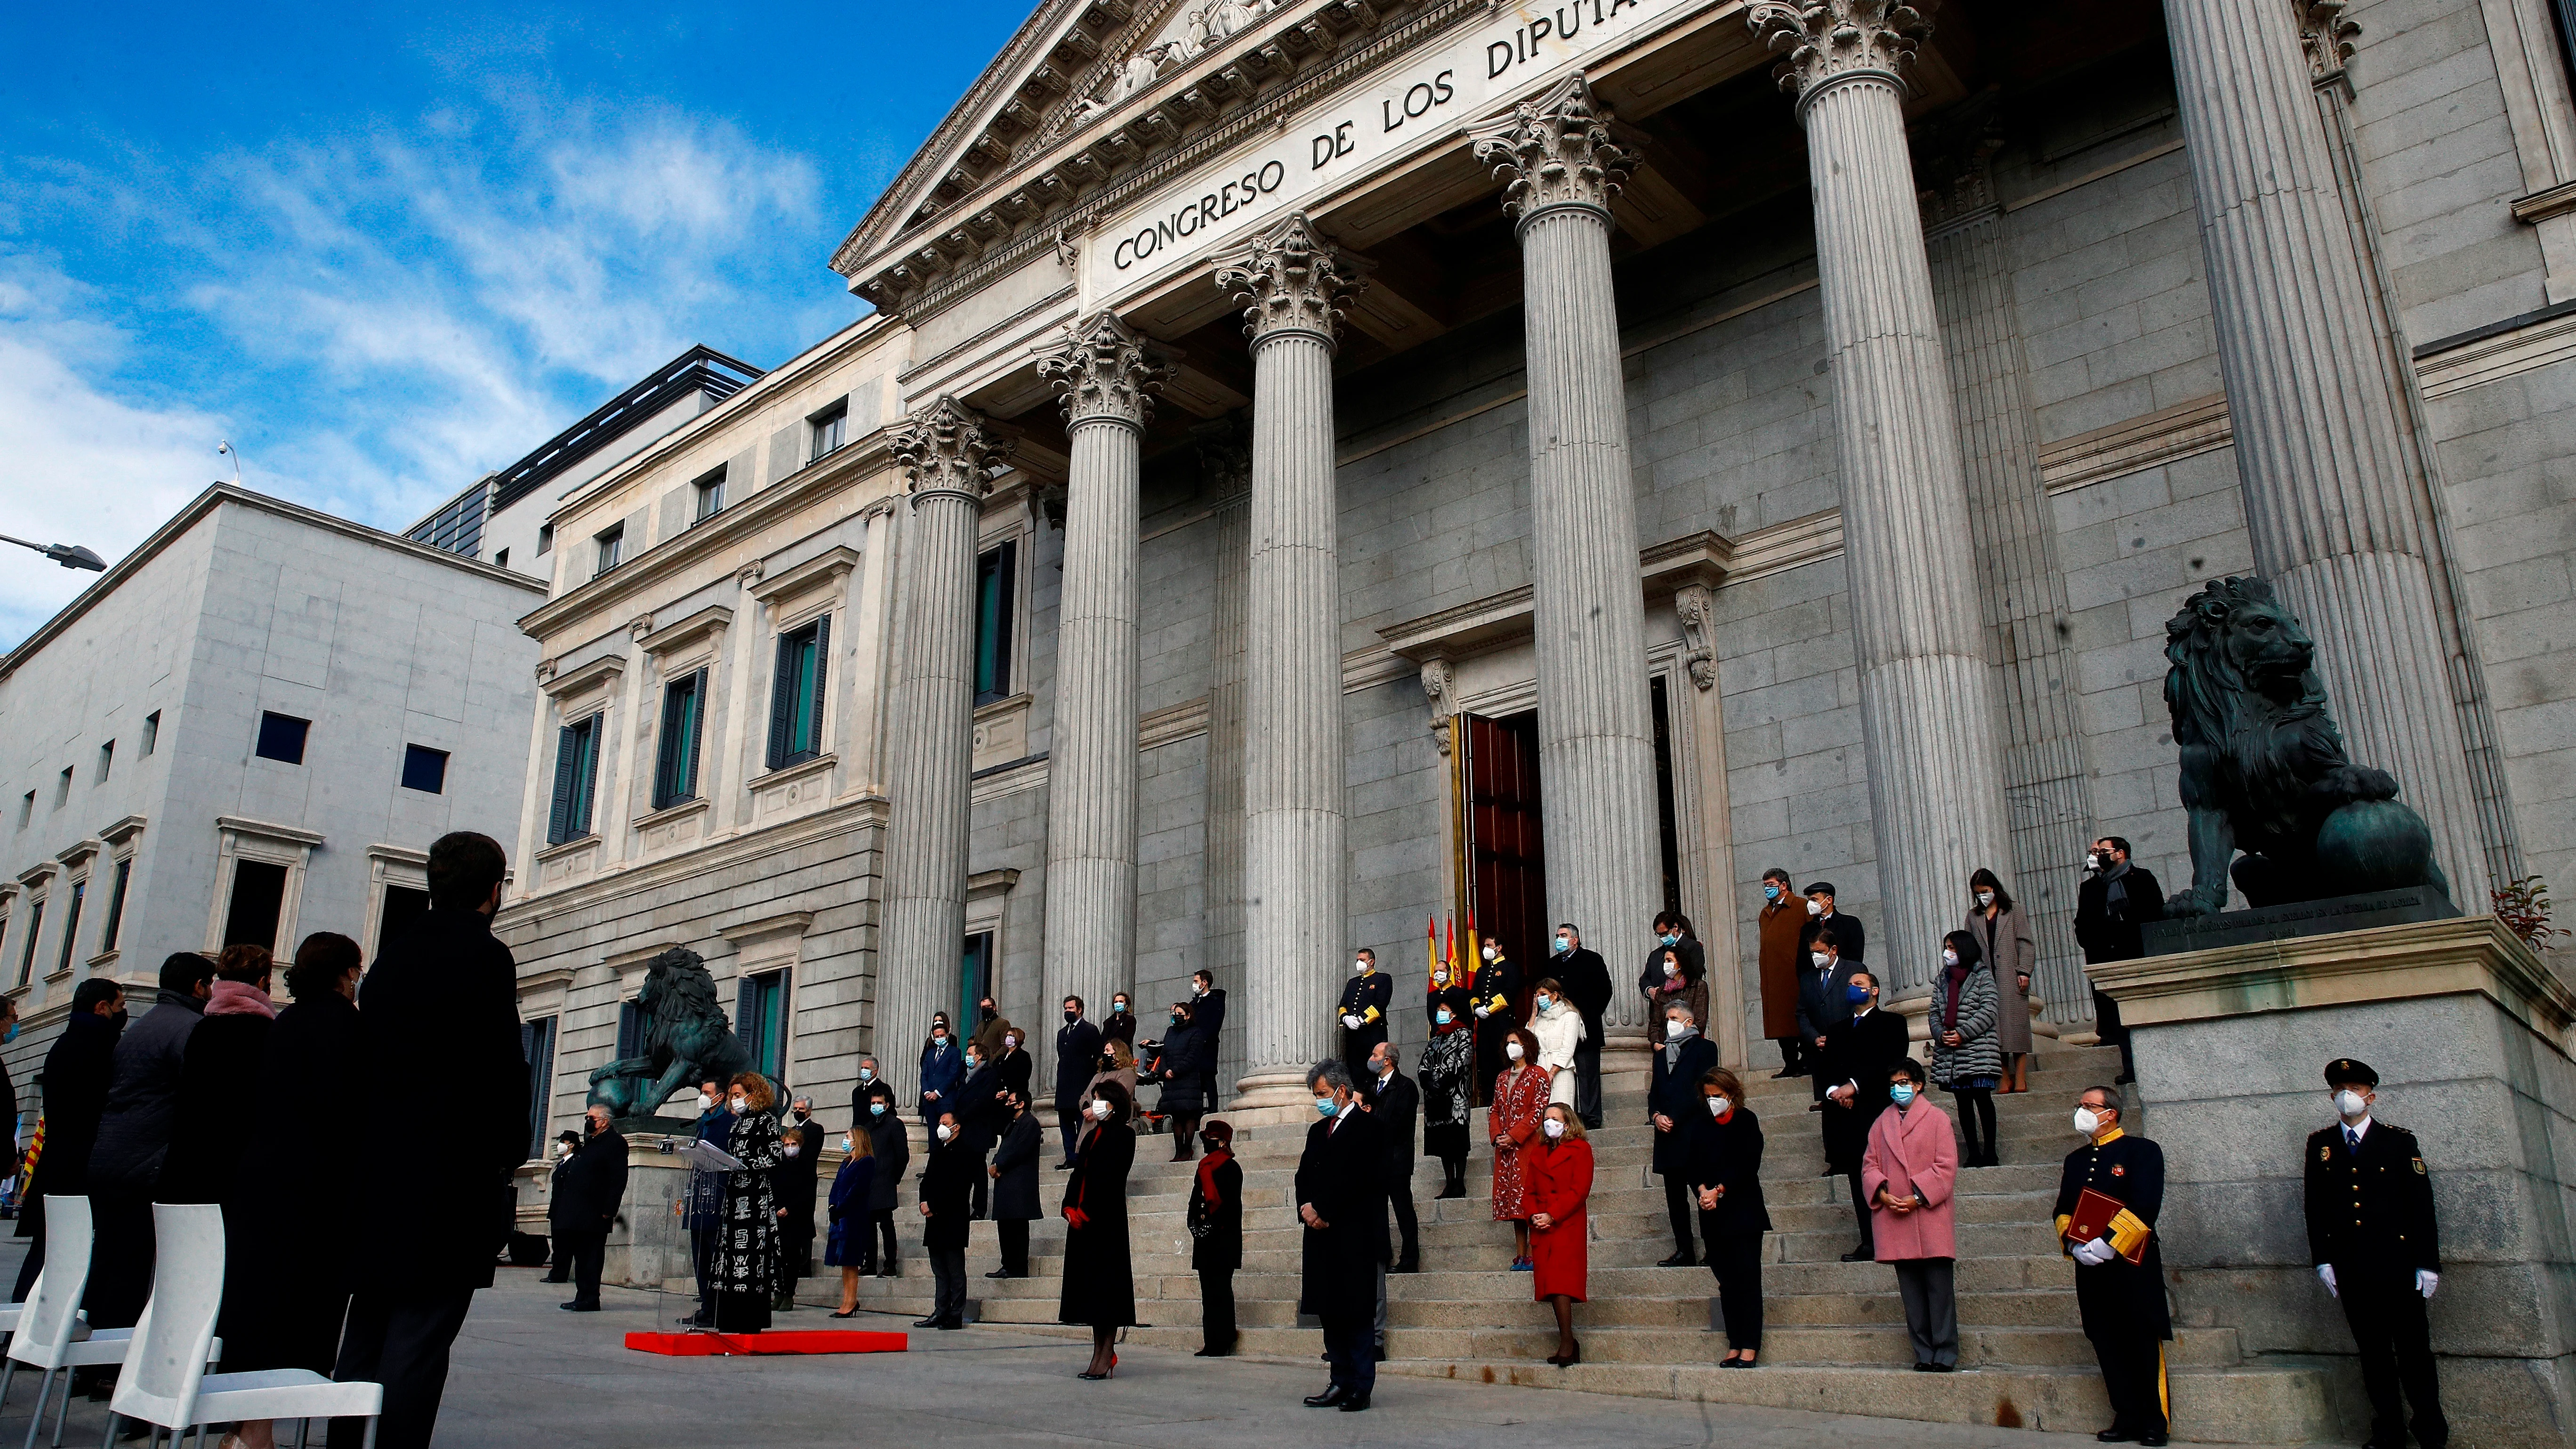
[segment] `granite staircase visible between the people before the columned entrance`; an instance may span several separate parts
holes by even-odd
[[[1651,1127],[1643,1096],[1613,1093],[1607,1127],[1592,1134],[1589,1294],[1577,1307],[1584,1361],[1548,1366],[1556,1330],[1533,1302],[1528,1274],[1512,1274],[1512,1230],[1492,1217],[1492,1158],[1468,1163],[1468,1196],[1435,1201],[1440,1168],[1425,1160],[1414,1178],[1422,1217],[1422,1271],[1388,1276],[1386,1351],[1381,1374],[1440,1377],[1486,1385],[1566,1387],[1587,1392],[1747,1403],[1991,1423],[2004,1428],[2094,1431],[2110,1423],[2092,1343],[2074,1297],[2074,1266],[2058,1253],[2050,1207],[2058,1160],[2074,1147],[2066,1122],[2076,1093],[2110,1080],[2117,1055],[2099,1047],[2056,1047],[2030,1073],[2030,1093],[1999,1096],[2002,1165],[1960,1173],[1958,1194],[1958,1374],[1911,1372],[1904,1305],[1880,1263],[1842,1263],[1855,1245],[1842,1178],[1824,1176],[1819,1119],[1806,1078],[1757,1073],[1747,1096],[1765,1127],[1762,1181],[1772,1232],[1765,1240],[1762,1366],[1721,1372],[1723,1333],[1710,1330],[1716,1284],[1708,1269],[1659,1269],[1672,1253],[1662,1181],[1651,1173]],[[1945,1109],[1947,1093],[1935,1093]],[[1481,1111],[1476,1140],[1484,1137]],[[1054,1137],[1054,1134],[1048,1134]],[[1298,1328],[1301,1230],[1288,1201],[1298,1127],[1247,1127],[1236,1137],[1244,1165],[1244,1266],[1234,1279],[1239,1354],[1314,1361],[1321,1338]],[[1193,1163],[1170,1163],[1170,1137],[1136,1150],[1128,1194],[1141,1325],[1128,1343],[1198,1348],[1198,1279],[1182,1227]],[[1041,1199],[1061,1191],[1048,1173]],[[863,1279],[860,1305],[876,1312],[930,1312],[930,1266],[920,1222],[896,1217],[904,1240],[896,1279]],[[984,1279],[999,1266],[989,1222],[974,1225],[969,1294],[984,1323],[1090,1338],[1056,1325],[1061,1287],[1061,1220],[1033,1225],[1028,1279]],[[806,1302],[837,1302],[837,1271],[804,1284]],[[2326,1377],[2298,1364],[2264,1364],[2241,1354],[2228,1328],[2179,1328],[2166,1346],[2177,1439],[2221,1444],[2300,1444],[2331,1439]]]

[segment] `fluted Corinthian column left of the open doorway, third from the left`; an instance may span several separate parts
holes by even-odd
[[[1306,1098],[1347,949],[1332,351],[1355,278],[1298,211],[1221,266],[1216,284],[1244,304],[1252,335],[1242,1111]]]

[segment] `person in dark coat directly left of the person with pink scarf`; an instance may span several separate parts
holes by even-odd
[[[108,1104],[90,1145],[90,1328],[134,1328],[152,1297],[152,1189],[170,1152],[170,1116],[188,1036],[206,1016],[214,962],[178,951],[162,962],[152,1011],[116,1042]]]

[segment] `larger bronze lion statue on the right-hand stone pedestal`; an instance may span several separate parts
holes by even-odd
[[[2249,905],[2416,884],[2450,895],[2396,776],[2344,755],[2316,639],[2269,583],[2205,585],[2164,624],[2164,657],[2192,830],[2192,890],[2166,915],[2223,910],[2231,877]]]

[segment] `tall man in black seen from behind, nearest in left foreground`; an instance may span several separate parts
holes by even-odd
[[[502,848],[459,830],[430,846],[430,910],[376,951],[358,987],[366,1042],[363,1101],[407,1101],[420,1083],[477,1083],[526,1101],[518,1049],[518,967],[492,936]],[[474,1289],[510,1240],[510,1173],[528,1160],[523,1111],[474,1111],[438,1145],[402,1132],[353,1145],[358,1225],[350,1232],[348,1328],[332,1377],[384,1385],[379,1449],[428,1449],[448,1385],[448,1348]],[[363,1421],[335,1418],[332,1449],[358,1449]]]

